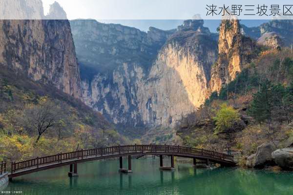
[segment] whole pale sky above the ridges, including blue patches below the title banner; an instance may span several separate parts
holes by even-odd
[[[55,0],[42,0],[44,13],[49,11],[49,5]],[[63,7],[69,20],[74,19],[95,19],[105,23],[120,23],[127,26],[139,28],[147,31],[149,26],[154,26],[163,30],[176,28],[182,24],[183,20],[191,19],[195,14],[201,17],[206,15],[206,4],[223,3],[235,4],[235,0],[56,0]],[[241,3],[242,2],[242,3]],[[237,4],[255,5],[255,0],[237,0]],[[258,0],[258,4],[286,4],[292,0]],[[206,19],[206,18],[204,18]],[[217,20],[206,20],[205,26],[212,32],[216,31],[219,25]],[[264,23],[264,19],[259,17],[245,23],[247,26],[257,26]]]

